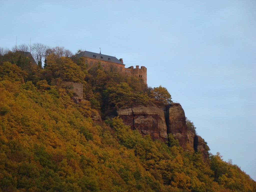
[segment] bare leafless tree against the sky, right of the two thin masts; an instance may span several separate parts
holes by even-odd
[[[32,55],[40,68],[42,68],[42,59],[45,57],[47,49],[48,47],[41,43],[33,43],[31,47]]]

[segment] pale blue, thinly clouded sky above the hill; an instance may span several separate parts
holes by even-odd
[[[145,66],[212,154],[256,180],[256,1],[0,0],[0,46],[40,42]]]

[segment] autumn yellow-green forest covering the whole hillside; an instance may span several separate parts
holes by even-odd
[[[256,191],[219,153],[204,162],[171,134],[167,145],[118,117],[91,118],[126,105],[164,106],[171,95],[162,86],[100,65],[88,70],[82,58],[52,52],[46,60],[41,68],[18,53],[0,56],[0,191]],[[74,103],[61,81],[83,83],[84,100]]]

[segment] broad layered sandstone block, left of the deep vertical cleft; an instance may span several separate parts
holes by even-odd
[[[117,114],[124,124],[137,129],[144,135],[150,135],[153,140],[167,141],[167,127],[164,111],[156,106],[136,106],[119,109]]]

